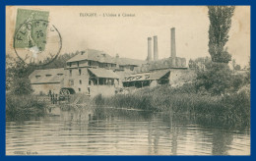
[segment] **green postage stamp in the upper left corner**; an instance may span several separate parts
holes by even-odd
[[[16,18],[15,48],[36,48],[44,51],[47,39],[49,12],[18,9]]]

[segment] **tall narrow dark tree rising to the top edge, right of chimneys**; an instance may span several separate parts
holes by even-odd
[[[228,31],[231,27],[231,18],[234,6],[209,6],[209,53],[213,62],[228,63],[231,60],[227,49]]]

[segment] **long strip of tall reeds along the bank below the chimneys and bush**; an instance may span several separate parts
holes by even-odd
[[[224,95],[211,95],[196,92],[192,83],[176,88],[161,85],[111,97],[97,95],[94,100],[98,107],[135,108],[173,115],[190,115],[201,120],[205,118],[208,122],[218,122],[223,126],[250,126],[249,86]]]

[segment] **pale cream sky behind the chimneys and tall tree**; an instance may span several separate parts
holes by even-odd
[[[12,43],[18,8],[49,12],[49,22],[57,27],[62,37],[60,54],[91,48],[111,56],[118,54],[145,60],[148,37],[158,35],[159,58],[167,58],[170,56],[170,28],[175,27],[178,57],[184,57],[188,62],[189,59],[210,56],[210,22],[206,6],[8,6],[6,51],[11,55],[15,55]],[[103,17],[104,14],[116,17]],[[124,16],[128,14],[133,17]],[[249,6],[236,6],[228,34],[226,47],[232,59],[241,66],[248,65]]]

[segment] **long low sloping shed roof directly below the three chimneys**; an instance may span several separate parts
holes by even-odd
[[[140,73],[125,77],[124,81],[160,80],[168,73],[170,73],[170,70],[160,70],[151,73]]]

